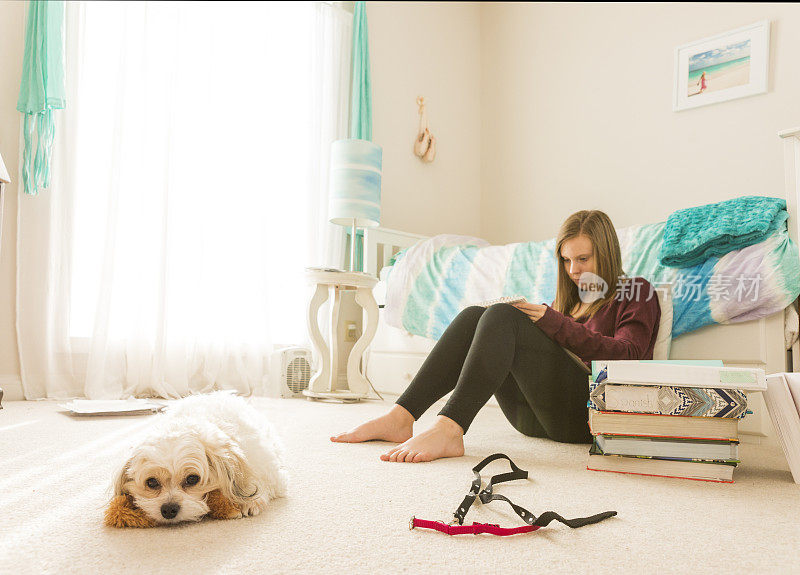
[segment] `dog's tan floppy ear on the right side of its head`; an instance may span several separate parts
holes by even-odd
[[[208,467],[222,494],[234,503],[246,503],[262,494],[263,487],[239,447],[230,439],[205,442]]]

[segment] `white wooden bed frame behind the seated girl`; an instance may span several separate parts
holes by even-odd
[[[797,243],[800,237],[800,128],[781,132],[780,137],[784,142],[789,237]],[[427,236],[386,228],[368,228],[364,238],[365,271],[378,275],[395,253]],[[376,297],[378,303],[382,304],[384,300],[381,294],[378,293]],[[433,340],[389,327],[381,317],[378,333],[366,356],[367,377],[379,391],[402,393],[434,344]],[[721,359],[725,365],[759,367],[767,373],[800,371],[800,346],[795,344],[792,350],[786,350],[784,312],[744,323],[710,325],[682,335],[673,340],[669,357]],[[772,423],[761,394],[751,397],[750,408],[753,414],[742,421],[740,431],[751,436],[771,433]],[[751,437],[749,441],[758,442],[758,439]]]

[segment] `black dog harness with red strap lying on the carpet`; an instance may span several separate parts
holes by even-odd
[[[481,474],[480,471],[486,467],[492,461],[497,459],[507,459],[508,462],[511,464],[512,471],[508,473],[501,473],[499,475],[493,476],[489,480],[489,484],[486,486],[485,489],[481,490]],[[458,506],[455,513],[453,513],[453,520],[450,523],[444,523],[443,521],[428,521],[426,519],[417,519],[416,517],[411,518],[411,522],[409,523],[409,529],[414,529],[415,527],[421,527],[424,529],[435,529],[436,531],[441,531],[442,533],[447,533],[448,535],[460,535],[463,533],[490,533],[492,535],[515,535],[517,533],[529,533],[531,531],[536,531],[541,527],[545,527],[550,524],[553,520],[559,521],[564,525],[571,527],[572,529],[583,527],[584,525],[591,525],[592,523],[599,523],[604,519],[608,519],[609,517],[613,517],[617,514],[616,511],[605,511],[603,513],[598,513],[597,515],[592,515],[591,517],[579,517],[577,519],[564,519],[558,513],[553,511],[546,511],[542,513],[539,517],[536,517],[533,513],[528,511],[527,509],[520,507],[519,505],[515,505],[511,500],[503,495],[497,495],[494,493],[494,486],[498,483],[504,483],[506,481],[513,481],[515,479],[527,479],[528,472],[520,469],[517,465],[511,460],[511,458],[503,453],[495,453],[494,455],[490,455],[483,461],[481,461],[478,465],[472,468],[472,473],[475,475],[474,479],[472,480],[472,486],[470,487],[469,493],[467,496],[464,497],[464,501],[461,502],[461,505]],[[464,517],[466,516],[467,512],[469,511],[472,504],[475,502],[475,499],[480,499],[481,503],[489,503],[491,501],[505,501],[507,502],[514,512],[519,515],[522,520],[527,524],[524,527],[513,527],[513,528],[506,528],[500,527],[494,523],[473,523],[472,525],[464,525]]]

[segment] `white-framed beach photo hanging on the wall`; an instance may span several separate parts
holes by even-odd
[[[674,111],[767,91],[769,20],[675,49]]]

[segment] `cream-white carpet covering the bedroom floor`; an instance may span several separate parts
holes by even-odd
[[[390,444],[328,440],[385,404],[253,403],[287,445],[289,496],[255,518],[144,530],[103,527],[102,513],[112,470],[150,416],[76,419],[53,401],[6,403],[0,573],[763,573],[800,565],[800,486],[774,444],[743,444],[733,485],[591,472],[588,446],[524,437],[486,407],[465,457],[396,464],[378,459]],[[471,467],[498,451],[530,480],[496,492],[531,512],[619,515],[508,538],[409,531],[411,515],[448,517]],[[484,477],[506,470],[496,462]],[[467,521],[522,524],[503,502],[477,503]]]

